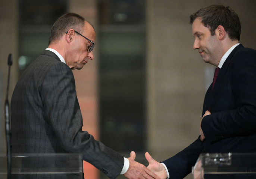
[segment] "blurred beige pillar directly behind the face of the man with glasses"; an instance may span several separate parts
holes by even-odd
[[[91,22],[96,28],[97,39],[97,1],[69,0],[69,12],[74,12]],[[94,60],[90,60],[81,70],[73,70],[76,82],[77,98],[83,117],[83,131],[88,131],[99,140],[99,104],[97,72],[97,40],[93,48]],[[84,161],[84,178],[99,178],[99,170]]]

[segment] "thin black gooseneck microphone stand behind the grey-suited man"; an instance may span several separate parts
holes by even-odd
[[[5,100],[5,132],[6,132],[6,148],[7,148],[7,179],[11,179],[11,166],[12,166],[12,158],[11,158],[11,144],[10,144],[10,106],[8,101],[8,91],[9,91],[9,81],[10,81],[10,68],[12,65],[12,54],[10,53],[8,56],[8,82],[7,82],[7,91],[6,91],[6,100]]]

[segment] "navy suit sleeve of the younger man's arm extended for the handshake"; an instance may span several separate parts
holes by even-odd
[[[197,158],[201,153],[202,141],[199,138],[187,148],[168,158],[162,163],[168,169],[170,179],[182,179],[192,171],[192,166],[196,164]]]

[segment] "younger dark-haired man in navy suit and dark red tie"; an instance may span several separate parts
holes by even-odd
[[[216,66],[203,104],[200,136],[175,156],[158,163],[146,153],[148,168],[161,179],[191,173],[200,153],[256,152],[256,51],[239,44],[241,24],[230,7],[212,5],[190,16],[193,48]],[[205,178],[255,178],[208,175]],[[195,171],[194,178],[202,178]]]

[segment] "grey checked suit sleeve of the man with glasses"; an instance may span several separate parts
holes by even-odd
[[[62,148],[81,153],[83,160],[93,164],[110,179],[116,178],[124,166],[124,157],[82,131],[82,115],[71,69],[55,63],[40,87],[44,119],[52,126]]]

